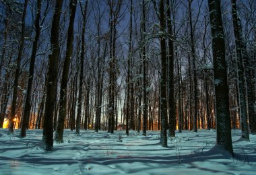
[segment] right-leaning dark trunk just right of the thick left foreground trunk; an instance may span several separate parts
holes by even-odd
[[[62,71],[60,100],[59,100],[59,117],[57,122],[57,129],[55,133],[55,142],[63,142],[63,130],[65,124],[65,116],[67,114],[67,81],[69,75],[69,65],[73,54],[73,25],[75,22],[75,11],[77,0],[69,0],[69,28],[67,30],[67,46],[65,53],[65,60]],[[75,117],[75,116],[73,116]],[[80,120],[80,118],[79,118]],[[78,126],[77,126],[78,127]]]

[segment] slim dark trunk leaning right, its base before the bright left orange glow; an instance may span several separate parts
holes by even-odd
[[[28,6],[28,0],[25,0],[24,9],[22,13],[22,36],[20,38],[20,46],[19,46],[18,58],[17,58],[16,68],[15,68],[15,78],[13,83],[13,95],[11,100],[11,118],[9,121],[9,133],[13,133],[13,127],[14,127],[14,118],[15,118],[17,95],[18,95],[18,82],[20,77],[20,67],[21,67],[22,53],[23,53],[24,42],[25,42],[25,26],[26,26],[25,20],[26,20],[27,6]]]

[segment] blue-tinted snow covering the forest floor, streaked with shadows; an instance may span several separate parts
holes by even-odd
[[[241,140],[232,130],[235,157],[215,146],[216,131],[183,131],[161,147],[160,131],[64,131],[64,143],[42,149],[42,130],[7,135],[0,129],[0,174],[255,174],[256,135]]]

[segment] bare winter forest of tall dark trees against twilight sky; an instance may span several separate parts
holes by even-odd
[[[0,128],[256,134],[255,0],[0,0]]]

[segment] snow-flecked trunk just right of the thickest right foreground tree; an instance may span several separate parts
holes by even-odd
[[[249,123],[247,116],[247,92],[246,92],[246,82],[245,82],[245,66],[243,61],[243,55],[247,57],[246,48],[242,50],[243,34],[241,28],[241,22],[238,26],[238,15],[236,11],[236,0],[232,0],[232,20],[234,26],[234,37],[236,43],[236,62],[237,62],[237,73],[238,73],[238,94],[240,103],[240,116],[241,116],[241,128],[242,128],[242,138],[249,141]],[[248,57],[246,59],[249,59]],[[248,81],[247,81],[248,82]],[[248,82],[249,83],[249,82]],[[250,84],[250,83],[249,83]],[[250,89],[249,89],[250,90]]]

